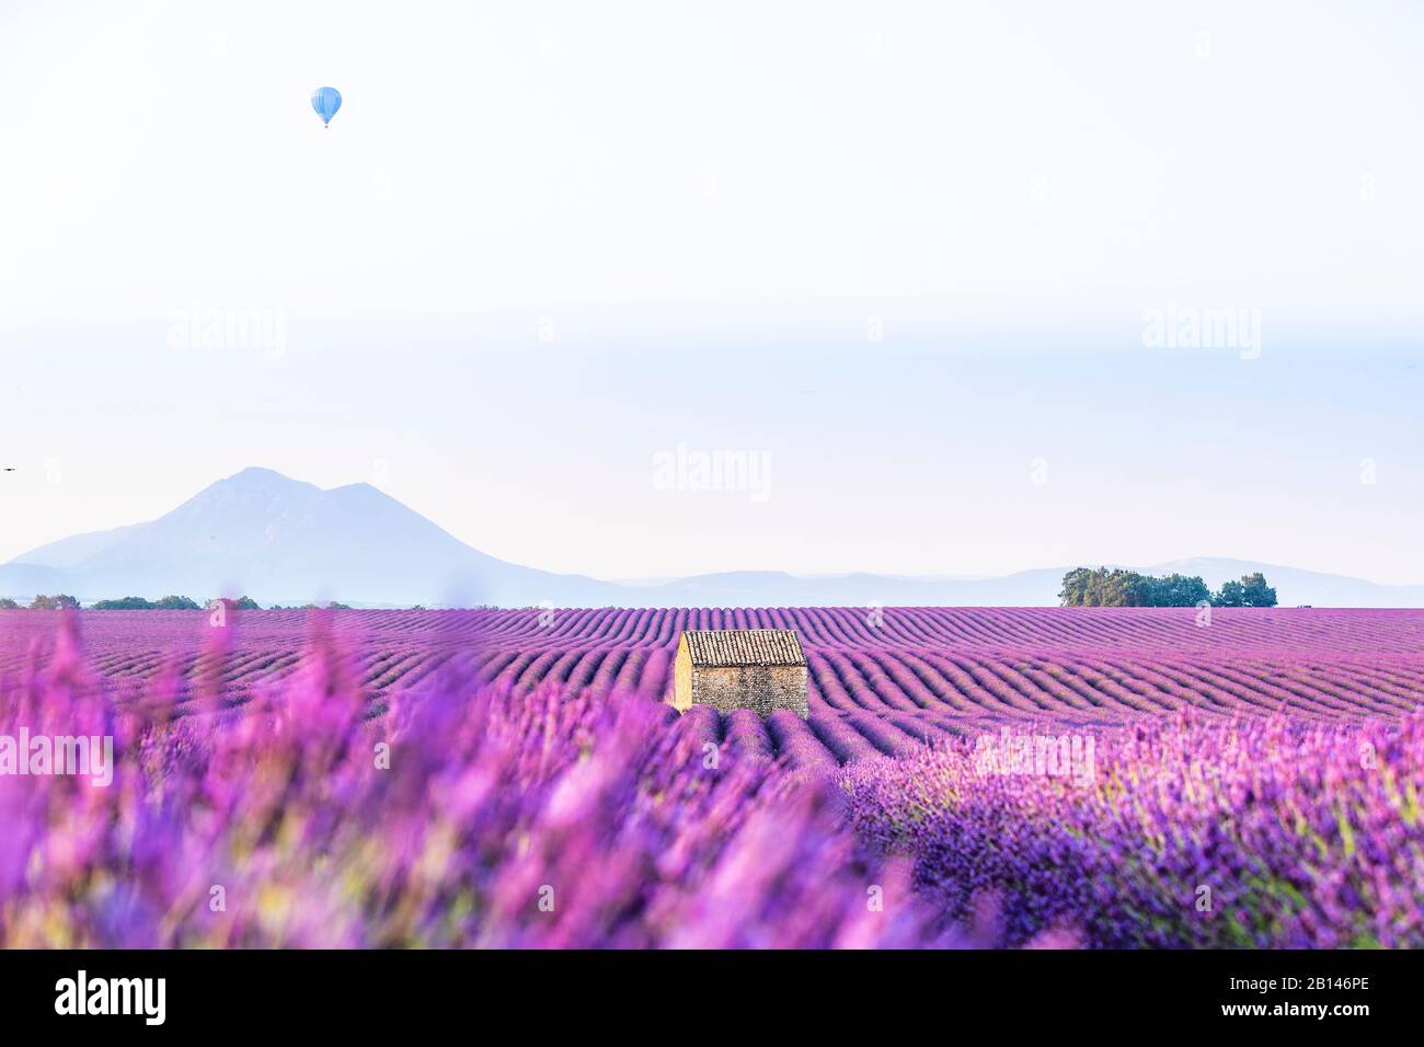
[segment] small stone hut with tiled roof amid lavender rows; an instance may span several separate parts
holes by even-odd
[[[806,655],[795,630],[688,630],[672,668],[679,711],[790,709],[806,719]]]

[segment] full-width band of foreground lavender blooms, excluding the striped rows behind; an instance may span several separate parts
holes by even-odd
[[[1071,775],[973,732],[837,768],[459,660],[380,691],[339,615],[239,705],[235,625],[105,689],[78,621],[0,679],[0,735],[117,766],[0,775],[7,947],[1424,944],[1418,712],[1042,725]]]

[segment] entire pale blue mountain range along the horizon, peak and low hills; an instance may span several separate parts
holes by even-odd
[[[470,548],[370,484],[322,490],[245,469],[157,520],[77,534],[0,566],[0,595],[71,593],[88,603],[168,594],[246,594],[263,605],[500,607],[1037,607],[1058,603],[1068,567],[1001,578],[887,574],[797,577],[726,571],[655,583],[553,574]],[[1424,607],[1424,585],[1380,585],[1247,560],[1195,558],[1141,568],[1199,574],[1213,588],[1262,571],[1283,605]]]

